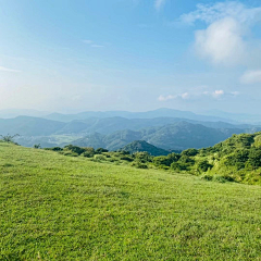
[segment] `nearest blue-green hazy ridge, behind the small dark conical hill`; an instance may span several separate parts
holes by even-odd
[[[73,144],[82,147],[102,147],[109,150],[117,150],[135,140],[145,140],[165,150],[184,150],[213,146],[233,134],[243,132],[239,128],[215,129],[200,124],[178,122],[141,130],[119,130],[109,135],[96,133],[77,139]]]

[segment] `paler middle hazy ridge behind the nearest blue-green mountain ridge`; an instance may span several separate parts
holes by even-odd
[[[257,132],[259,126],[249,124],[231,124],[226,122],[199,122],[178,117],[124,119],[124,117],[90,117],[69,123],[46,120],[41,117],[18,116],[0,119],[0,134],[18,133],[24,136],[45,135],[86,135],[91,133],[111,134],[117,130],[140,130],[149,127],[160,127],[178,122],[201,124],[211,128],[240,128],[246,132]]]

